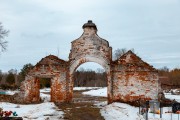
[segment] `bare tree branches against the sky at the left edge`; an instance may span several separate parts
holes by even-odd
[[[0,49],[1,52],[5,51],[7,48],[7,41],[4,40],[4,37],[7,37],[9,33],[9,30],[5,30],[2,26],[2,23],[0,22]]]

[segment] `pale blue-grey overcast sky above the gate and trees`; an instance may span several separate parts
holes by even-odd
[[[134,48],[155,68],[180,67],[180,0],[0,0],[0,22],[10,30],[0,70],[20,71],[49,54],[68,60],[88,20],[113,51]]]

